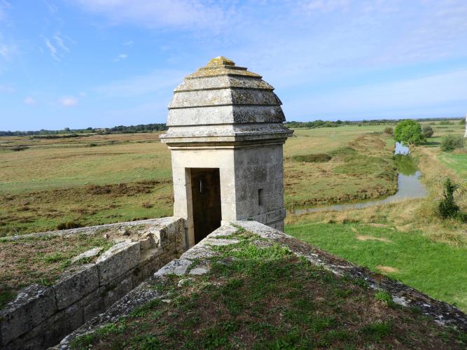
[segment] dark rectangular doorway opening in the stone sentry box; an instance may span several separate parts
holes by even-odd
[[[219,169],[192,168],[190,174],[196,244],[221,227],[221,178]]]

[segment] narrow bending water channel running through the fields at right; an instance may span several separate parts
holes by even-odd
[[[317,211],[344,211],[347,209],[368,208],[375,205],[387,204],[393,202],[402,202],[414,198],[426,197],[426,188],[420,181],[421,172],[410,157],[410,149],[396,142],[394,156],[396,158],[396,167],[398,170],[398,188],[394,195],[379,198],[377,200],[361,200],[344,204],[333,204],[324,207],[312,207],[304,209],[295,209],[293,214],[314,213]]]

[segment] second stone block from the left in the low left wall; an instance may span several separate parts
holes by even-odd
[[[94,264],[70,269],[53,285],[57,308],[64,309],[99,287],[99,274]]]

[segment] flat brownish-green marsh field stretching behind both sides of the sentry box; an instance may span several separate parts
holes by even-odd
[[[392,143],[377,134],[383,129],[295,130],[284,148],[286,206],[393,193]],[[0,237],[172,215],[170,154],[158,137],[1,137]],[[329,159],[300,158],[315,153]]]

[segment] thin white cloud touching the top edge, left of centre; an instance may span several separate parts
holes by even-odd
[[[148,28],[210,28],[225,25],[221,6],[210,0],[74,0],[113,24],[130,23]]]

